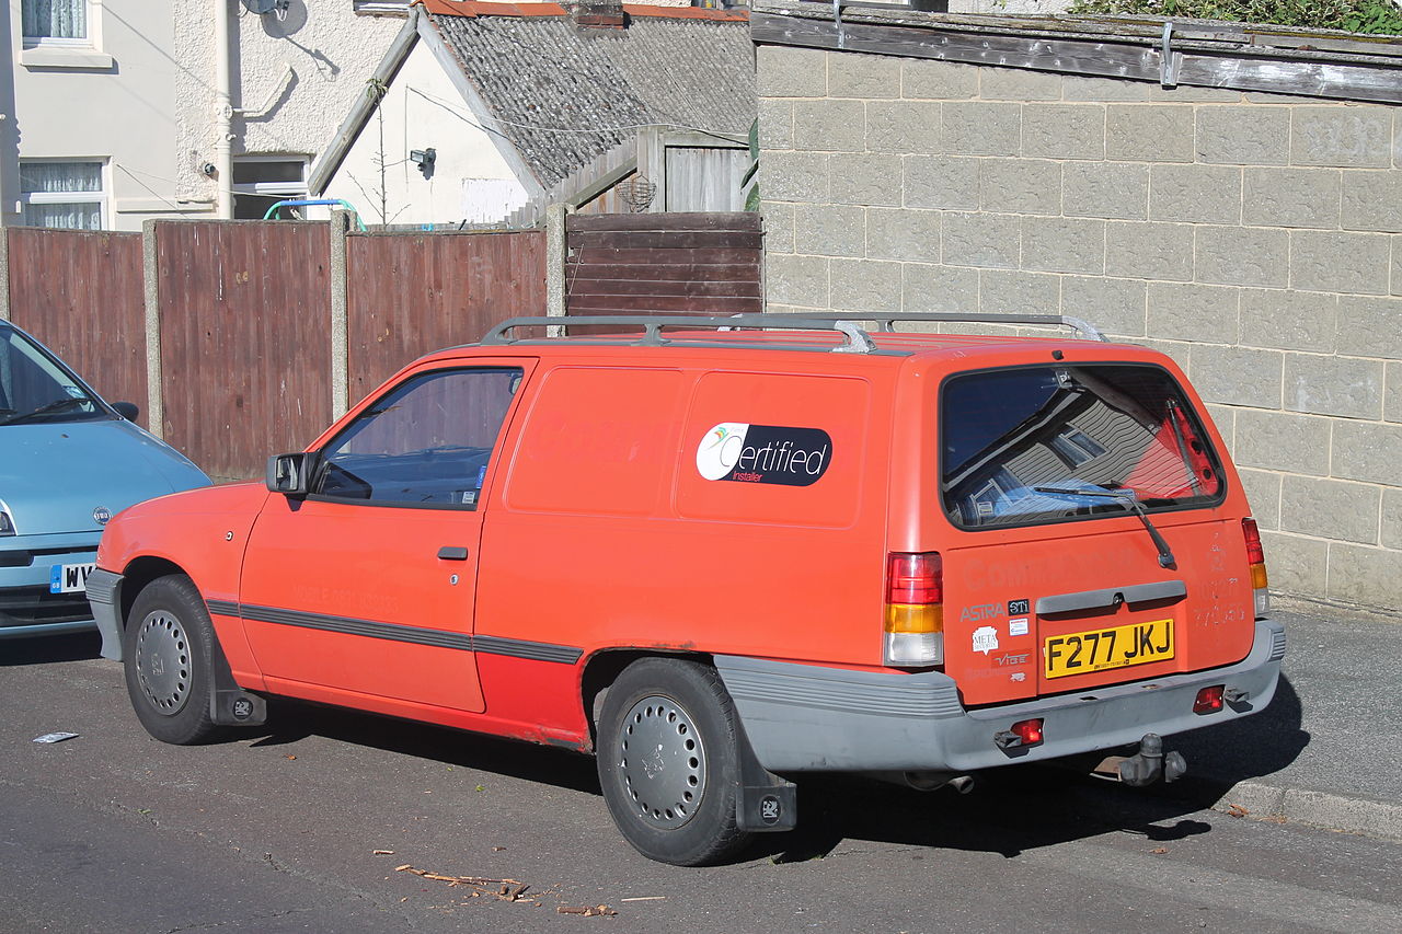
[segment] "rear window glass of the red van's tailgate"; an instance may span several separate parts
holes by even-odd
[[[941,491],[966,529],[1220,502],[1217,453],[1155,366],[1035,366],[951,377]]]

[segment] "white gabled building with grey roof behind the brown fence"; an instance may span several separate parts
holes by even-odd
[[[754,115],[744,13],[423,0],[308,189],[383,224],[736,210]]]

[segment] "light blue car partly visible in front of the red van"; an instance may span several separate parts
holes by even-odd
[[[0,321],[0,638],[95,628],[84,583],[122,509],[209,477]]]

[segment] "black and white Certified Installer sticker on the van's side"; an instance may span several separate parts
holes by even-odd
[[[833,439],[820,428],[721,422],[697,445],[697,471],[707,480],[808,487],[833,461]]]

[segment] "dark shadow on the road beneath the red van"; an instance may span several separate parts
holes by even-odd
[[[297,701],[276,701],[271,712],[272,729],[243,733],[245,739],[257,738],[254,746],[317,735],[600,795],[593,759],[568,750]],[[1234,783],[1269,776],[1294,762],[1309,740],[1300,724],[1300,697],[1283,677],[1266,711],[1166,739],[1168,749],[1187,759],[1189,774],[1150,788],[1129,788],[1052,764],[981,773],[967,795],[847,776],[803,776],[798,830],[758,834],[742,860],[799,862],[852,840],[1015,858],[1028,850],[1112,832],[1151,841],[1211,833],[1199,812],[1213,806]]]

